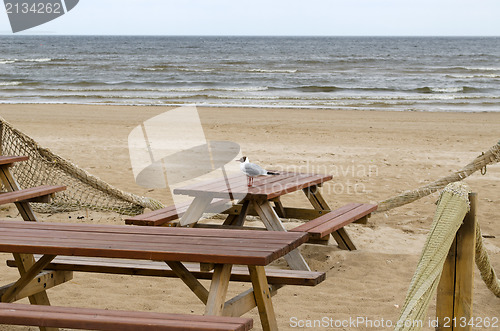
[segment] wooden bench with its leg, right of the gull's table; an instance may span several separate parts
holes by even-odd
[[[328,242],[331,234],[339,243],[340,248],[355,250],[356,246],[352,243],[343,227],[352,222],[366,220],[375,210],[377,210],[377,205],[350,203],[299,225],[290,231],[309,233],[309,242],[311,243]]]

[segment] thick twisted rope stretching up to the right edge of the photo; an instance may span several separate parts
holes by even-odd
[[[446,185],[458,182],[472,175],[478,170],[486,171],[486,166],[500,162],[500,141],[492,146],[486,153],[475,158],[471,163],[453,174],[438,179],[428,185],[422,186],[416,190],[405,191],[400,195],[389,198],[378,203],[377,213],[387,211],[396,207],[403,206],[415,200],[428,196],[431,193],[437,192]]]

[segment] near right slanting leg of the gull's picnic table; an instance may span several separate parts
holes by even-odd
[[[276,214],[276,211],[273,209],[268,200],[264,200],[263,202],[252,201],[253,207],[266,228],[270,231],[286,231],[283,223],[281,223],[280,218]],[[304,257],[300,254],[298,248],[294,249],[290,253],[284,256],[286,262],[290,266],[290,268],[295,270],[307,270],[311,271],[307,262],[304,260]]]

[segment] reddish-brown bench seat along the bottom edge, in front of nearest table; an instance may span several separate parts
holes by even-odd
[[[90,308],[0,303],[0,324],[108,331],[238,330],[253,327],[250,318],[197,316]]]

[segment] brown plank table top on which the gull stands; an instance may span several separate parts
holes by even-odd
[[[278,175],[255,177],[252,187],[247,186],[244,175],[233,175],[228,178],[197,183],[174,190],[174,194],[189,196],[207,196],[227,198],[231,194],[235,199],[272,199],[331,180],[331,175],[303,174],[280,172]]]

